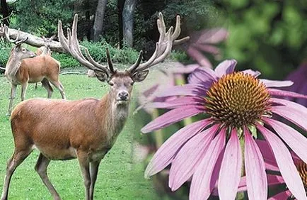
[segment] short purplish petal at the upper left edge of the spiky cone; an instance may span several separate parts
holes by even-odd
[[[216,81],[216,79],[215,72],[208,67],[197,68],[187,78],[190,84],[201,84],[208,88],[211,86],[212,82]]]

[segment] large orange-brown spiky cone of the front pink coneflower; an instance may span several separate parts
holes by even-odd
[[[207,113],[226,126],[242,128],[255,124],[270,107],[270,94],[258,79],[243,72],[221,77],[207,91]]]

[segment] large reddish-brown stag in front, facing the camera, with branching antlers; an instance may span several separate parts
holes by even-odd
[[[154,55],[147,62],[140,63],[140,52],[134,65],[118,71],[113,68],[108,50],[108,67],[95,62],[86,48],[86,57],[82,55],[76,35],[77,21],[78,16],[75,15],[72,30],[67,30],[67,38],[64,37],[62,23],[59,21],[59,41],[66,52],[88,69],[94,70],[101,82],[108,82],[110,91],[100,100],[30,99],[16,106],[11,116],[15,150],[8,160],[2,200],[7,199],[14,170],[33,148],[40,151],[35,170],[54,199],[60,197],[47,176],[47,166],[50,160],[74,158],[79,161],[86,199],[93,199],[98,166],[124,127],[134,82],[143,81],[149,73],[147,69],[166,58],[173,42],[185,40],[175,40],[180,35],[180,17],[177,16],[175,30],[171,27],[166,32],[162,13],[159,13],[157,23],[160,38]]]

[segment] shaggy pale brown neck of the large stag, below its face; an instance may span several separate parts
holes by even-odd
[[[103,111],[105,115],[103,121],[107,138],[109,144],[113,145],[122,128],[124,128],[124,123],[126,123],[129,114],[129,102],[127,104],[118,104],[109,93],[103,96],[100,104],[105,109]]]

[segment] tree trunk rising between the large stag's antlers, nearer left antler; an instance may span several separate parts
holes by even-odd
[[[105,7],[107,6],[107,3],[108,0],[98,0],[93,27],[93,40],[95,42],[100,39],[100,35],[103,33],[103,18],[105,17]]]

